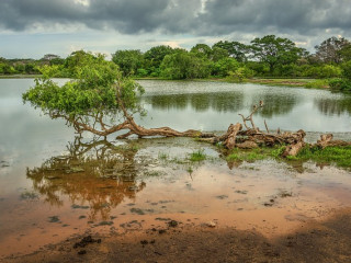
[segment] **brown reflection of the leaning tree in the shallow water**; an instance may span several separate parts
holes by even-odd
[[[134,199],[146,184],[137,182],[136,148],[115,147],[107,140],[89,144],[76,138],[68,156],[53,157],[41,168],[27,169],[33,187],[50,205],[61,206],[68,195],[72,207],[90,207],[90,219],[106,220],[112,208],[125,197]]]

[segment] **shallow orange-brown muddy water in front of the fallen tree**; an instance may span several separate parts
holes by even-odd
[[[199,150],[206,159],[190,161]],[[274,160],[231,165],[214,147],[186,138],[76,141],[68,152],[27,168],[31,187],[0,196],[8,211],[0,216],[1,256],[75,235],[158,231],[173,221],[274,238],[351,205],[346,170]]]

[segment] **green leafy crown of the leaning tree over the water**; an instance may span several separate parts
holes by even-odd
[[[77,56],[77,57],[76,57]],[[59,66],[42,68],[43,77],[35,80],[35,87],[23,94],[24,102],[41,107],[52,117],[77,117],[95,113],[115,114],[121,111],[116,100],[116,84],[121,88],[120,98],[124,106],[138,112],[137,91],[141,87],[133,80],[123,78],[117,66],[106,61],[102,55],[76,53],[70,56],[73,80],[59,87],[50,78],[55,77]],[[78,61],[78,62],[77,62]]]

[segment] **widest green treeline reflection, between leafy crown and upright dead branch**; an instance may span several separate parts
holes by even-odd
[[[152,95],[144,100],[157,110],[184,110],[189,105],[196,112],[210,108],[216,112],[237,112],[244,108],[241,91]]]

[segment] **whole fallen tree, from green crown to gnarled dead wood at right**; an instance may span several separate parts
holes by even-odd
[[[170,127],[145,128],[134,121],[135,114],[144,114],[137,94],[144,89],[120,72],[117,66],[106,61],[103,56],[93,56],[79,52],[71,56],[76,61],[72,67],[73,79],[64,85],[52,80],[55,67],[42,69],[43,77],[35,80],[35,87],[23,94],[24,102],[41,107],[52,118],[64,118],[68,125],[82,134],[90,132],[98,136],[120,133],[118,139],[136,135],[166,137],[197,137],[212,144],[222,144],[226,149],[273,147],[284,145],[283,157],[296,156],[306,146],[306,133],[270,133],[267,123],[265,132],[261,132],[253,122],[253,114],[263,107],[263,102],[253,105],[249,116],[242,117],[242,124],[230,124],[227,133],[222,136],[189,129],[178,132]],[[245,127],[245,129],[244,129]],[[322,136],[318,147],[331,145],[350,145],[346,141],[332,140],[332,135]]]

